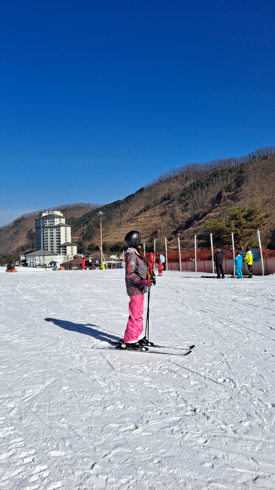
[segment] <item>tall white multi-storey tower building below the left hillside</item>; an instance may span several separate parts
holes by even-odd
[[[70,225],[60,211],[46,211],[35,219],[35,249],[57,255],[77,253],[76,244],[70,241]]]

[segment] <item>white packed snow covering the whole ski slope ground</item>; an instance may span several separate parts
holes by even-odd
[[[125,352],[123,275],[0,274],[0,488],[274,489],[275,277],[164,272]]]

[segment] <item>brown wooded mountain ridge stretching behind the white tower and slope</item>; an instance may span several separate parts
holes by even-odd
[[[129,229],[140,231],[143,240],[163,241],[170,248],[193,247],[207,219],[226,217],[230,206],[258,205],[270,212],[270,223],[261,235],[275,248],[275,147],[260,148],[244,157],[190,163],[161,174],[133,194],[109,204],[80,203],[55,206],[72,226],[73,242],[88,246],[99,240],[98,211],[103,241],[123,240]],[[0,229],[0,253],[34,250],[34,217],[31,213]],[[198,243],[199,245],[199,243]]]

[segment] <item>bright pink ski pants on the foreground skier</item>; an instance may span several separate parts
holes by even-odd
[[[124,343],[142,339],[144,294],[130,296],[129,318],[124,333]]]

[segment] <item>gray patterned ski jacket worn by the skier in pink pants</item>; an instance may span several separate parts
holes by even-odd
[[[147,279],[147,264],[141,259],[135,249],[127,249],[125,253],[125,284],[128,296],[144,294],[146,286],[137,284],[138,279]]]

